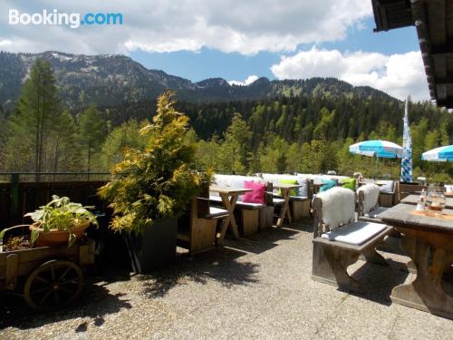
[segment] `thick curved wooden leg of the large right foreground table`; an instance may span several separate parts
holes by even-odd
[[[417,277],[410,284],[394,287],[391,300],[453,319],[453,297],[442,287],[442,275],[453,264],[453,236],[410,228],[397,229],[404,235],[401,248],[417,267]]]

